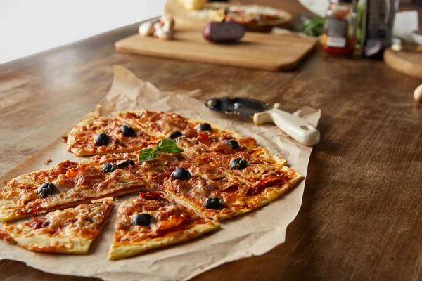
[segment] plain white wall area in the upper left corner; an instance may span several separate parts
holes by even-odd
[[[0,0],[0,63],[161,15],[165,0]]]

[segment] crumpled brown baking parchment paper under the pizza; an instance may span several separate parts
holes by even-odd
[[[276,126],[255,126],[251,119],[229,118],[208,110],[193,98],[198,91],[177,94],[161,92],[153,84],[141,81],[124,67],[115,66],[113,84],[106,98],[89,115],[108,115],[120,110],[162,110],[177,112],[185,117],[209,120],[233,129],[245,136],[252,136],[259,145],[288,159],[288,166],[306,176],[312,148],[299,145]],[[229,93],[225,93],[228,95]],[[305,107],[295,112],[316,126],[320,110]],[[0,178],[8,181],[20,174],[46,169],[45,159],[57,164],[65,159],[80,161],[67,152],[60,139],[25,160]],[[91,246],[88,255],[34,253],[0,242],[0,259],[23,261],[28,266],[49,273],[99,277],[103,280],[187,280],[222,263],[261,255],[284,242],[286,228],[298,214],[302,204],[305,180],[278,200],[248,214],[222,222],[222,229],[198,237],[196,240],[147,251],[140,256],[120,261],[108,261],[107,253],[113,238],[115,214],[119,202],[134,195],[118,197],[110,221]]]

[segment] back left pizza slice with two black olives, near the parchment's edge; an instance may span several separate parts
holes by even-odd
[[[131,152],[156,145],[160,140],[118,119],[91,117],[77,124],[69,133],[68,150],[77,156]]]

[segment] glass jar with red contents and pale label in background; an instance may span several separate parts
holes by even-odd
[[[331,0],[322,35],[323,51],[330,55],[352,56],[356,44],[356,28],[356,1]]]

